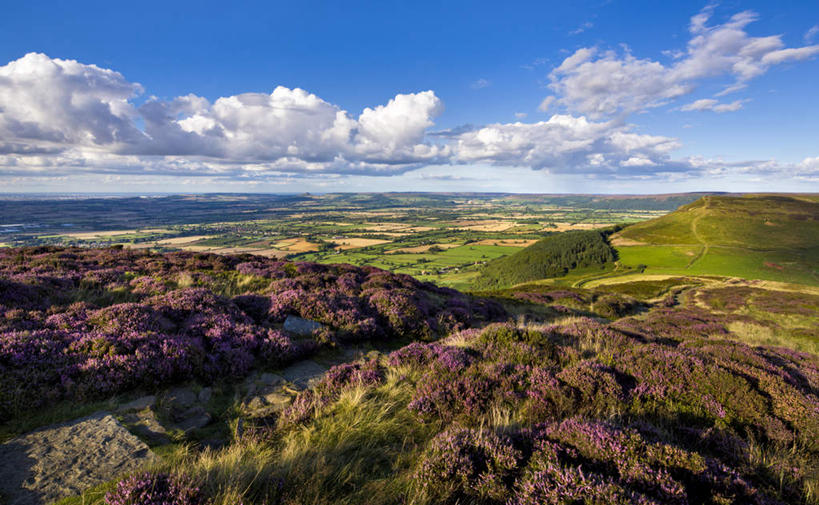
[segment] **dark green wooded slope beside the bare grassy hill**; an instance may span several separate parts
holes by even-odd
[[[604,268],[615,259],[605,232],[571,231],[548,236],[529,247],[489,262],[473,286],[501,289],[523,282],[562,277],[571,270]]]

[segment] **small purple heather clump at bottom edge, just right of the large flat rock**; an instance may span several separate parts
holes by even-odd
[[[105,495],[106,505],[205,505],[207,500],[185,477],[164,473],[134,475]]]

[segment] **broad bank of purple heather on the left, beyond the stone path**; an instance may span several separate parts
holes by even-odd
[[[234,297],[231,286],[259,290]],[[293,342],[298,315],[328,328]],[[0,421],[63,398],[240,378],[331,340],[431,338],[503,316],[494,302],[350,265],[56,247],[0,251]],[[453,358],[454,359],[454,358]],[[454,361],[453,361],[454,363]]]

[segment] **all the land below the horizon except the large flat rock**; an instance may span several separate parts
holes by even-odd
[[[0,216],[0,440],[103,411],[151,455],[62,505],[819,503],[816,195]]]

